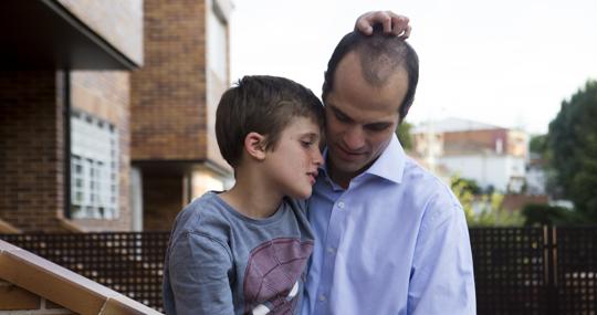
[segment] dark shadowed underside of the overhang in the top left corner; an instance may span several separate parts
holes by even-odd
[[[139,65],[53,0],[2,0],[0,69],[135,70]]]

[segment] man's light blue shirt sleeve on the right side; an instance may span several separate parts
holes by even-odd
[[[426,209],[415,249],[408,314],[475,314],[473,263],[464,211],[436,196]]]

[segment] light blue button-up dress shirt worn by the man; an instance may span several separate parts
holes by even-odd
[[[303,315],[475,314],[464,212],[392,137],[344,190],[320,171]]]

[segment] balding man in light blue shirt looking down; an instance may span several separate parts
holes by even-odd
[[[475,313],[462,207],[394,133],[413,101],[418,57],[404,41],[408,20],[388,20],[384,29],[402,38],[352,32],[325,73],[327,148],[310,200],[304,315]]]

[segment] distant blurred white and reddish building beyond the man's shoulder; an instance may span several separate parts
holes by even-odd
[[[412,136],[413,154],[432,169],[447,169],[502,192],[520,192],[525,185],[528,140],[524,132],[448,118],[421,124]]]

